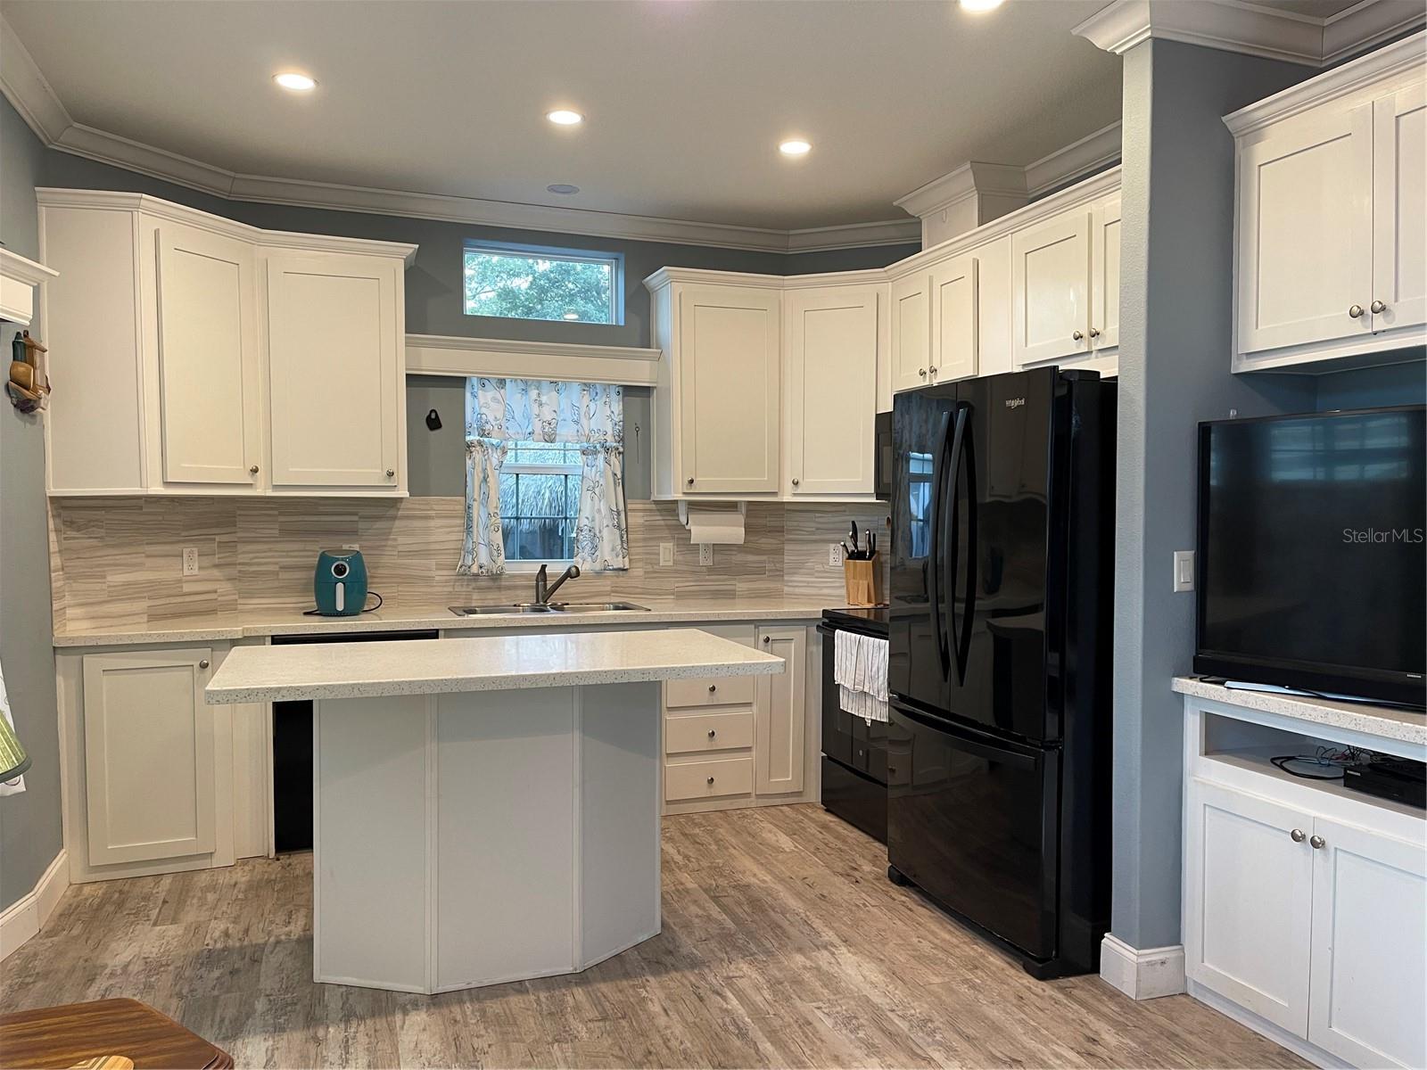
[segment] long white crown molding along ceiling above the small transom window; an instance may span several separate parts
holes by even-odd
[[[482,227],[511,227],[758,253],[819,253],[920,241],[913,220],[778,230],[243,174],[76,123],[0,16],[0,91],[49,147],[230,201],[288,204]]]

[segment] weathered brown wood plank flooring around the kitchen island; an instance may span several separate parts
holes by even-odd
[[[311,856],[70,889],[0,1010],[131,996],[240,1067],[1289,1067],[1187,996],[1036,982],[821,806],[666,817],[664,933],[442,996],[314,984]]]

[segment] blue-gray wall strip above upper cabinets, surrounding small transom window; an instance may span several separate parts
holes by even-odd
[[[283,204],[248,204],[210,197],[181,185],[59,151],[47,153],[44,178],[47,185],[150,193],[255,227],[415,243],[421,248],[417,251],[415,264],[407,270],[407,330],[412,334],[454,334],[469,338],[519,338],[589,345],[648,345],[649,294],[644,288],[644,280],[661,267],[702,267],[719,271],[801,275],[816,271],[883,267],[920,250],[920,244],[906,244],[789,255],[702,245],[674,245],[658,241],[591,238],[502,227],[475,227],[441,220],[408,220],[394,215],[327,211],[324,208],[294,208]],[[465,315],[461,311],[461,253],[468,240],[622,253],[625,258],[624,324],[616,327]]]

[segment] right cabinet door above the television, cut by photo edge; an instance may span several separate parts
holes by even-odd
[[[1373,103],[1373,330],[1427,322],[1427,87]],[[1370,305],[1377,308],[1377,304]]]

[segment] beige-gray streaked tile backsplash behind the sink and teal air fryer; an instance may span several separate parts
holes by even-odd
[[[54,498],[50,501],[54,626],[120,628],[311,605],[313,565],[324,548],[357,545],[371,589],[391,606],[524,601],[529,574],[458,576],[461,498]],[[629,502],[629,569],[586,574],[581,598],[842,598],[828,544],[848,521],[882,531],[886,506],[748,506],[741,546],[715,546],[698,564],[674,502]],[[674,565],[659,568],[659,544]],[[183,575],[183,549],[198,574]]]

